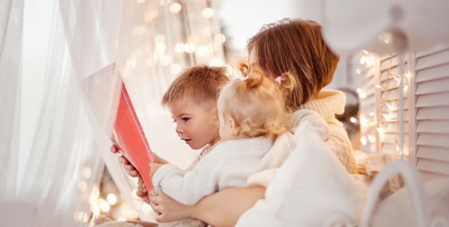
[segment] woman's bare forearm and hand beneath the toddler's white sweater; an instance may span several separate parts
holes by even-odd
[[[264,196],[263,186],[231,188],[206,196],[198,204],[189,206],[159,192],[152,196],[152,207],[155,212],[162,213],[156,219],[160,222],[193,217],[212,226],[235,226],[240,216]]]

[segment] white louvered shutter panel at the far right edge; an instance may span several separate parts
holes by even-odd
[[[449,48],[413,56],[415,162],[425,180],[449,177]]]

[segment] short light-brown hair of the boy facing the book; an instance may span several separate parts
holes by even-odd
[[[221,87],[229,81],[224,67],[194,66],[187,68],[168,87],[162,105],[189,98],[205,108],[216,105]]]

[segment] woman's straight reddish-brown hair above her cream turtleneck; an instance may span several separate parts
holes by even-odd
[[[297,86],[286,105],[297,110],[332,81],[339,57],[323,41],[321,25],[312,20],[284,19],[264,27],[249,39],[248,53],[258,66],[276,78],[294,75]]]

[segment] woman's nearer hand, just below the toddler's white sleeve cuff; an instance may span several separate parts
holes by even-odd
[[[163,191],[154,190],[150,192],[151,203],[154,212],[159,214],[156,221],[167,222],[177,221],[191,217],[191,211],[194,206],[178,203],[176,200],[167,196]]]

